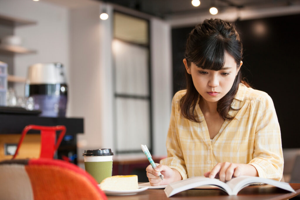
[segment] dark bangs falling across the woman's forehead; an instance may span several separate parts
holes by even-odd
[[[225,44],[220,36],[212,36],[211,40],[199,45],[190,56],[190,61],[206,70],[221,70],[225,64]]]

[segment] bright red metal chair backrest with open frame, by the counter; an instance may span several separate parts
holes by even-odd
[[[66,127],[65,126],[37,126],[37,125],[28,125],[26,126],[21,134],[19,143],[17,145],[17,149],[15,154],[13,155],[12,159],[15,159],[19,148],[24,140],[24,137],[26,133],[29,130],[40,130],[41,131],[41,154],[40,158],[53,158],[55,152],[57,151],[64,134],[66,133]],[[55,143],[56,139],[56,131],[61,131],[59,134],[59,137],[57,139],[57,142]]]

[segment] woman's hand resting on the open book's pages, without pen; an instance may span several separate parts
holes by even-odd
[[[252,165],[238,163],[218,163],[210,172],[205,172],[204,176],[209,178],[219,178],[220,181],[229,181],[232,177],[241,175],[257,176],[258,173]]]

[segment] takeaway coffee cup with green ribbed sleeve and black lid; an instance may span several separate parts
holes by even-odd
[[[112,176],[113,152],[111,149],[85,150],[84,157],[85,171],[88,172],[98,184],[107,177]]]

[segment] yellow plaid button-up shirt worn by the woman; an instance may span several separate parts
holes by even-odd
[[[240,84],[231,104],[239,110],[230,109],[234,119],[225,120],[211,140],[198,103],[195,113],[200,123],[180,114],[179,102],[185,93],[178,91],[173,97],[166,142],[168,157],[161,164],[177,169],[183,179],[203,176],[223,162],[250,164],[262,178],[282,178],[280,127],[268,94]]]

